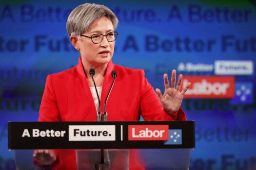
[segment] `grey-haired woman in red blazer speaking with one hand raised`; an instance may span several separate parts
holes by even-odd
[[[180,92],[182,75],[178,76],[175,86],[176,71],[173,70],[170,86],[167,74],[164,74],[164,94],[159,89],[156,89],[156,94],[144,78],[143,70],[112,63],[117,25],[118,18],[103,5],[86,3],[71,12],[67,32],[72,45],[80,53],[79,62],[74,68],[47,77],[39,121],[96,121],[98,104],[103,108],[113,80],[112,70],[116,70],[118,76],[108,100],[109,121],[139,120],[140,115],[145,120],[186,120],[180,105],[190,84]],[[89,74],[90,68],[96,70],[94,80],[100,103]],[[133,158],[130,162],[137,159],[136,153],[130,154]],[[34,157],[45,165],[76,169],[74,150],[38,150]],[[130,169],[143,169],[139,163],[133,162],[130,166],[133,166]]]

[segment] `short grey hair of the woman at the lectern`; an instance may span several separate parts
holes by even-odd
[[[67,32],[69,36],[79,36],[87,31],[90,25],[101,17],[108,17],[114,27],[118,26],[117,16],[106,6],[85,3],[76,7],[67,19]]]

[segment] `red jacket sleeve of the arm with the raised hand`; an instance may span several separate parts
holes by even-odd
[[[157,93],[140,70],[140,114],[144,120],[186,120],[185,112],[179,108],[177,118],[169,116],[163,109]]]

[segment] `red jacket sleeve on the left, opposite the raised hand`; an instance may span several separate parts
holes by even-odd
[[[46,78],[45,88],[39,109],[39,121],[60,121],[52,76]]]

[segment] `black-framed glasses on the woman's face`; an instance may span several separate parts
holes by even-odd
[[[113,32],[110,32],[110,33],[105,34],[105,35],[103,35],[103,34],[93,34],[92,36],[86,36],[86,35],[80,34],[80,36],[91,38],[92,42],[94,44],[98,44],[98,43],[101,43],[101,41],[103,40],[104,36],[106,36],[108,42],[115,41],[116,38],[118,37],[118,32],[113,31]]]

